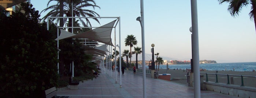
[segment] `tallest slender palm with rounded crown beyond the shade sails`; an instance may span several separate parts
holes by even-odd
[[[127,37],[125,38],[125,46],[130,46],[130,64],[131,64],[131,47],[133,47],[133,45],[137,45],[137,40],[136,37],[134,37],[134,35],[127,35]]]

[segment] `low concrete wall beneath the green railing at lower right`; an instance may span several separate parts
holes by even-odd
[[[242,98],[256,98],[256,88],[238,86],[233,84],[203,82],[202,90],[215,91],[218,93],[234,95]]]

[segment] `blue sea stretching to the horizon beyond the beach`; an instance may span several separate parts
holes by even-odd
[[[253,71],[256,70],[256,62],[245,63],[210,63],[199,64],[200,69],[209,71]],[[157,65],[158,67],[158,65]],[[146,68],[148,66],[146,65]],[[159,69],[167,69],[167,65],[160,65]],[[190,64],[168,64],[169,69],[190,69]]]

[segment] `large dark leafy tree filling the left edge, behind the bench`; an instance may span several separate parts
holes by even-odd
[[[10,17],[0,15],[0,96],[43,97],[59,78],[56,42],[33,5],[21,6]]]

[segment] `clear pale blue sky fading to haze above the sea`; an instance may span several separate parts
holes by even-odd
[[[31,4],[41,12],[47,8],[48,1],[31,0]],[[121,52],[124,49],[130,50],[129,46],[125,46],[125,38],[131,34],[138,41],[136,46],[142,47],[141,26],[136,20],[141,16],[140,0],[95,2],[100,9],[88,9],[97,12],[101,17],[120,16]],[[53,4],[56,3],[49,5]],[[256,62],[255,24],[248,15],[251,5],[243,7],[239,16],[235,17],[230,15],[227,7],[228,4],[219,4],[218,0],[197,0],[199,59],[215,60],[217,63]],[[41,17],[47,13],[42,12]],[[100,24],[92,20],[92,26],[102,26],[114,19],[99,20]],[[151,44],[155,44],[154,53],[159,53],[164,60],[183,61],[192,58],[190,0],[144,0],[144,24],[147,55],[151,55]],[[118,33],[117,27],[117,44]],[[114,33],[111,37],[114,44]]]

